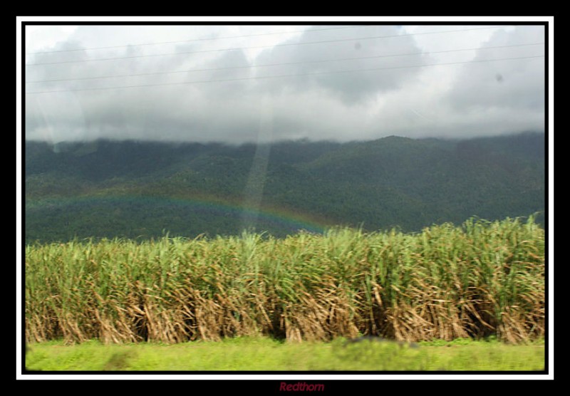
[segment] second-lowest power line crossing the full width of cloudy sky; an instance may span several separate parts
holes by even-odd
[[[153,73],[102,75],[102,76],[98,76],[98,77],[58,78],[58,79],[53,79],[53,80],[26,81],[26,84],[53,83],[53,82],[58,82],[58,81],[73,81],[73,80],[97,80],[97,79],[101,79],[101,78],[140,77],[143,75],[163,75],[163,74],[175,74],[175,73],[190,73],[190,72],[197,72],[197,71],[221,71],[221,70],[232,70],[232,69],[240,69],[240,68],[264,68],[264,67],[269,67],[269,66],[291,66],[291,65],[299,65],[299,64],[305,64],[305,63],[358,61],[358,60],[362,60],[362,59],[390,58],[393,56],[429,55],[432,53],[451,53],[451,52],[460,52],[460,51],[477,51],[477,50],[482,50],[482,49],[513,48],[513,47],[539,46],[539,45],[544,45],[544,43],[512,44],[509,46],[489,46],[489,47],[476,47],[476,48],[461,48],[461,49],[445,50],[445,51],[429,51],[429,52],[424,51],[424,52],[414,52],[414,53],[398,53],[398,54],[391,54],[391,55],[359,56],[356,58],[337,58],[337,59],[327,59],[327,60],[323,60],[323,61],[301,61],[301,62],[269,63],[266,65],[228,66],[228,67],[224,67],[224,68],[203,68],[203,69],[190,69],[190,70],[185,70],[185,71],[162,71],[162,72],[153,72]]]

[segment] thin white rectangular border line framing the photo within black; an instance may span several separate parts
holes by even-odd
[[[472,22],[549,22],[548,25],[548,43],[549,43],[549,67],[548,67],[548,150],[549,150],[549,175],[548,175],[548,256],[547,266],[549,270],[548,284],[548,312],[546,318],[548,321],[548,340],[549,340],[549,354],[548,365],[549,375],[432,375],[432,374],[408,374],[408,375],[311,375],[311,374],[252,374],[252,375],[75,375],[75,374],[61,374],[61,375],[22,375],[21,372],[21,293],[22,293],[22,241],[21,241],[21,22],[405,22],[413,24],[415,22],[430,22],[436,24],[442,23],[455,23],[469,24]],[[444,17],[427,17],[427,16],[26,16],[16,17],[16,380],[554,380],[554,16],[444,16]]]

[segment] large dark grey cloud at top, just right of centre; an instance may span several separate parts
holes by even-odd
[[[390,37],[400,33],[395,26],[363,26],[351,31],[350,35],[346,31],[323,33],[317,30],[321,28],[309,28],[299,38],[284,43],[317,42],[315,44],[276,46],[263,51],[256,60],[258,64],[282,63],[284,66],[271,68],[271,71],[259,68],[257,75],[299,75],[285,82],[269,80],[267,84],[286,85],[286,88],[293,87],[298,91],[322,89],[324,94],[336,95],[343,103],[351,105],[366,101],[377,93],[400,88],[403,81],[419,73],[417,68],[401,66],[422,64],[427,59],[418,54],[421,50],[410,36]],[[353,39],[347,41],[347,37]],[[325,42],[318,43],[322,41]],[[334,59],[339,61],[321,62]]]

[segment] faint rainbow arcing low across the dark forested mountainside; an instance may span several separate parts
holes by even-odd
[[[26,199],[26,210],[45,207],[67,207],[70,205],[90,204],[152,204],[156,206],[177,207],[199,213],[227,216],[240,219],[243,229],[254,228],[263,231],[263,226],[271,225],[286,233],[300,230],[322,234],[328,222],[316,219],[308,214],[293,212],[276,207],[244,207],[243,204],[219,199],[212,196],[168,197],[148,194],[89,194],[73,197],[48,197]]]

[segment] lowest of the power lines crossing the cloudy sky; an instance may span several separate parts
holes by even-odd
[[[466,63],[482,63],[482,62],[493,62],[493,61],[509,61],[516,59],[531,59],[531,58],[544,58],[544,55],[537,56],[519,56],[515,58],[497,58],[497,59],[483,59],[480,61],[465,61],[465,62],[449,62],[449,63],[428,63],[425,65],[413,65],[413,66],[394,66],[389,68],[368,68],[368,69],[354,69],[346,71],[325,71],[316,73],[304,73],[304,74],[284,74],[284,75],[264,75],[258,77],[244,77],[244,78],[226,78],[221,80],[203,80],[203,81],[184,81],[181,83],[160,83],[160,84],[144,84],[144,85],[121,85],[115,87],[101,87],[101,88],[81,88],[76,90],[44,90],[36,92],[26,92],[26,95],[39,94],[39,93],[58,93],[58,92],[81,92],[86,90],[110,90],[110,89],[123,89],[123,88],[147,88],[147,87],[159,87],[159,86],[172,86],[172,85],[189,85],[189,84],[199,84],[199,83],[221,83],[229,81],[239,81],[239,80],[257,80],[261,78],[286,78],[286,77],[302,77],[306,75],[321,75],[321,74],[336,74],[336,73],[353,73],[362,71],[383,71],[383,70],[395,70],[404,68],[423,68],[427,66],[449,66],[449,65],[460,65]]]

